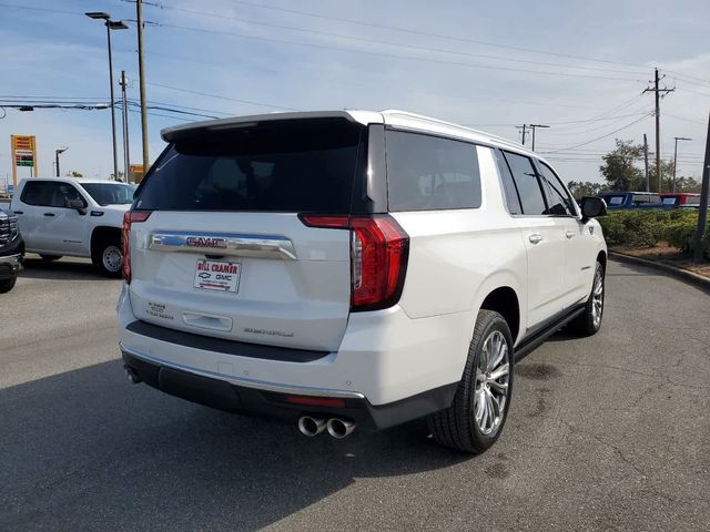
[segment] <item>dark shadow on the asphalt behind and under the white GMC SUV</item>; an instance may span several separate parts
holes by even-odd
[[[119,360],[2,389],[0,419],[0,530],[256,530],[357,478],[469,459],[420,422],[305,438],[130,385]]]

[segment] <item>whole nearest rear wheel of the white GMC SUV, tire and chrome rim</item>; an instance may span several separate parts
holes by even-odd
[[[493,446],[506,422],[513,369],[508,324],[498,313],[480,310],[454,402],[428,419],[434,439],[475,454]]]

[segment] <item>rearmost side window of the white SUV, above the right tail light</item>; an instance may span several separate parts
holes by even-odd
[[[476,146],[402,131],[385,132],[390,211],[480,207]]]

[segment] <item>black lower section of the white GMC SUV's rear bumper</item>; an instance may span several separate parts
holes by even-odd
[[[205,375],[204,371],[138,354],[120,346],[123,362],[133,375],[146,385],[165,393],[231,412],[296,423],[301,416],[351,419],[361,430],[382,430],[402,424],[452,403],[457,382],[388,405],[373,406],[358,392],[347,390],[307,389],[253,381],[248,379],[226,380],[224,376]],[[343,406],[303,406],[288,402],[290,397],[312,399],[342,399]]]

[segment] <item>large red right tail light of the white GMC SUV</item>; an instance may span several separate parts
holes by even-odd
[[[308,227],[351,231],[351,310],[378,310],[399,300],[409,255],[409,236],[388,214],[320,216],[304,214]]]

